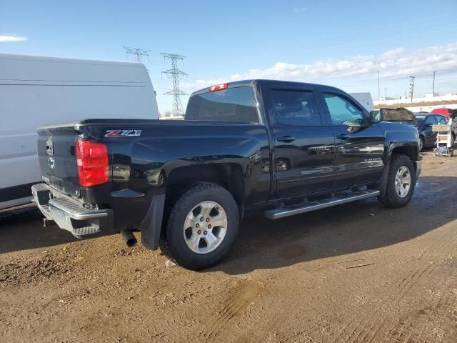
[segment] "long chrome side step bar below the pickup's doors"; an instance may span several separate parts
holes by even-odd
[[[269,209],[268,211],[263,212],[263,215],[268,219],[280,219],[293,216],[295,214],[315,211],[316,209],[325,209],[326,207],[346,204],[346,202],[355,202],[369,197],[376,197],[377,195],[379,195],[379,191],[375,190],[341,194],[336,195],[335,197],[320,199],[312,202],[293,204],[286,207],[280,207],[278,209]]]

